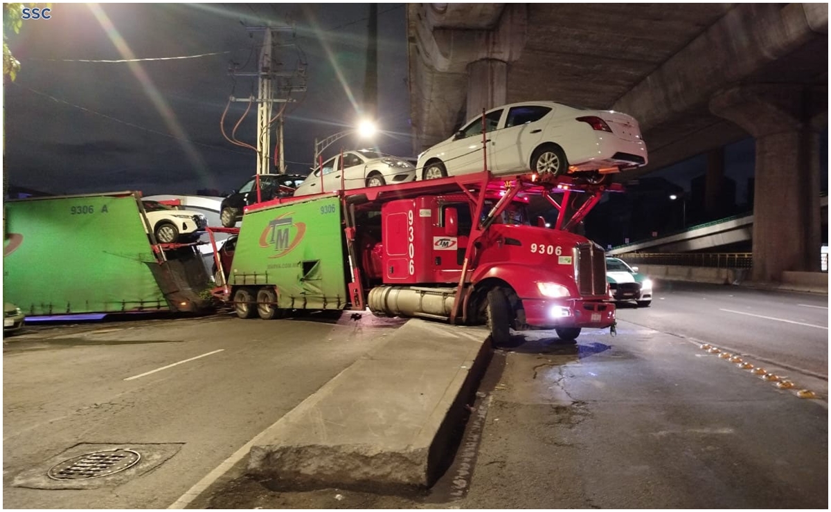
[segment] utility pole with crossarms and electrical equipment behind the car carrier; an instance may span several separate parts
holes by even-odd
[[[282,61],[274,55],[275,48],[296,46],[283,43],[278,37],[280,32],[294,32],[294,27],[246,27],[249,32],[263,31],[263,49],[260,51],[257,71],[231,71],[234,76],[256,76],[258,95],[256,98],[234,98],[231,101],[248,101],[257,103],[257,174],[267,174],[271,170],[271,129],[277,127],[279,159],[276,162],[278,173],[286,172],[286,160],[283,155],[283,109],[273,117],[274,103],[289,103],[294,100],[289,96],[293,92],[306,90],[306,64],[298,61],[294,71],[281,71]],[[275,41],[278,40],[278,41]],[[275,97],[275,93],[278,97]]]

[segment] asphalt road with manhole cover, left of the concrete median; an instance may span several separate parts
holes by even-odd
[[[401,324],[316,318],[86,324],[4,339],[4,507],[165,508]],[[50,489],[52,464],[108,445],[162,463],[115,488]]]

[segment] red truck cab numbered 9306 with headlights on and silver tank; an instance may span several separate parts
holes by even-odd
[[[528,197],[499,207],[503,196],[489,192],[478,222],[475,202],[463,193],[384,203],[381,239],[361,244],[374,286],[371,310],[450,318],[455,288],[445,287],[461,284],[465,322],[502,322],[492,328],[498,343],[511,328],[556,329],[561,339],[575,339],[583,327],[611,326],[615,307],[607,301],[602,249],[571,232],[533,225]]]

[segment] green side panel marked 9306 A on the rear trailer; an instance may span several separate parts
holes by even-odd
[[[3,297],[27,315],[170,310],[131,195],[6,202]]]

